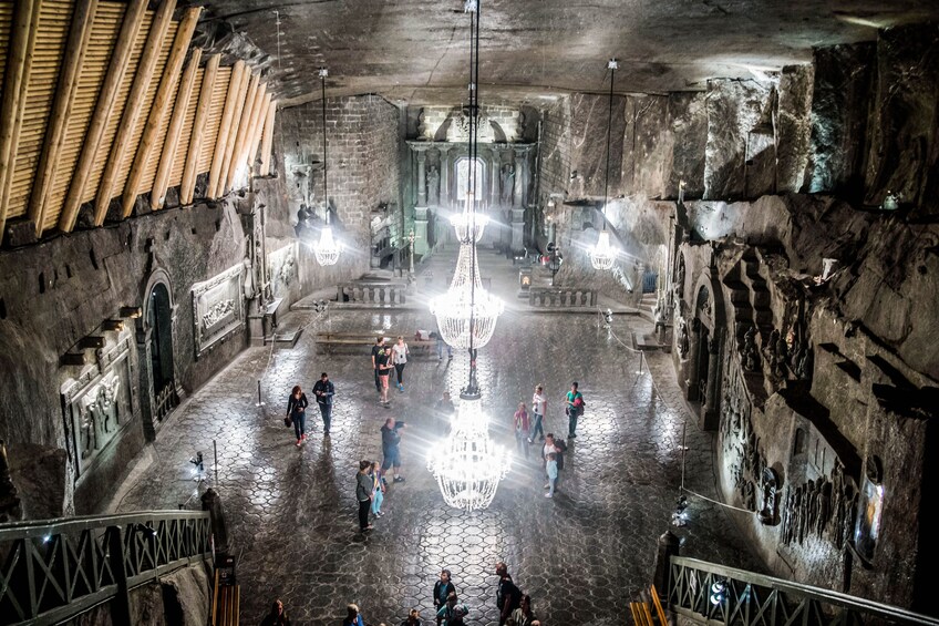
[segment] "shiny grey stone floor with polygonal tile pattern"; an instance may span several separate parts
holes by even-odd
[[[411,607],[429,618],[441,567],[453,572],[471,609],[467,623],[496,624],[497,561],[508,564],[545,624],[625,620],[629,601],[651,581],[656,540],[669,528],[682,476],[682,433],[687,485],[714,495],[711,437],[690,418],[668,355],[648,355],[638,373],[638,353],[620,340],[649,330],[640,318],[617,316],[603,329],[589,314],[525,310],[514,305],[510,264],[493,253],[481,254],[481,261],[494,290],[509,300],[478,359],[493,437],[514,445],[507,430],[512,413],[520,400],[530,400],[537,382],[550,398],[548,430],[566,428],[560,399],[570,381],[580,381],[588,401],[555,500],[543,496],[533,447],[529,460],[516,454],[488,510],[445,506],[426,468],[437,441],[429,407],[444,389],[457,397],[467,357],[415,356],[405,370],[405,391],[391,391],[385,409],[376,402],[368,350],[324,355],[313,335],[331,327],[411,336],[433,328],[431,316],[426,309],[331,310],[295,312],[308,325],[295,349],[248,349],[193,393],[163,427],[154,462],[130,480],[116,507],[197,506],[188,459],[203,451],[210,463],[215,440],[219,466],[208,484],[217,482],[240,555],[245,624],[259,623],[277,597],[295,625],[339,624],[349,602],[375,625],[399,624]],[[436,263],[452,267],[452,258]],[[332,438],[313,434],[298,449],[282,422],[287,396],[297,383],[309,390],[324,370],[337,387]],[[261,409],[255,406],[258,380],[268,401]],[[409,423],[402,468],[407,482],[389,489],[385,516],[363,536],[355,521],[355,471],[360,459],[380,458],[379,429],[389,415]],[[318,419],[309,430],[317,433],[317,425]],[[684,555],[762,569],[729,517],[734,512],[690,500],[688,525],[674,528]]]

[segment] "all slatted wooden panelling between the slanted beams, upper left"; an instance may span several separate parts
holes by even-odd
[[[125,2],[115,2],[100,0],[93,3],[94,13],[90,22],[90,34],[87,35],[87,44],[84,49],[84,54],[81,57],[76,80],[74,81],[73,90],[69,93],[73,94],[71,107],[64,124],[60,124],[63,129],[61,135],[61,147],[55,157],[54,167],[50,168],[49,182],[47,192],[38,193],[32,199],[30,207],[30,197],[34,193],[33,186],[39,166],[40,156],[43,154],[45,146],[47,134],[50,127],[50,116],[54,102],[59,98],[56,91],[59,89],[60,72],[62,72],[63,61],[66,54],[66,43],[69,41],[70,29],[72,28],[73,16],[75,14],[75,0],[35,0],[39,7],[38,29],[34,32],[34,49],[29,66],[28,81],[24,83],[22,101],[18,102],[18,111],[22,115],[22,124],[19,127],[19,135],[16,140],[16,145],[11,150],[14,160],[11,162],[9,171],[8,184],[10,188],[9,202],[6,206],[6,212],[0,215],[0,226],[3,229],[9,229],[11,223],[23,222],[31,219],[41,220],[42,224],[35,228],[37,233],[44,234],[60,227],[60,216],[63,212],[65,198],[69,189],[73,184],[75,168],[79,162],[79,156],[82,146],[86,140],[86,134],[91,124],[92,115],[100,100],[100,92],[105,82],[107,72],[112,63],[112,55],[115,49],[115,42],[121,32],[121,28],[125,18],[127,4]],[[0,96],[4,94],[7,76],[7,64],[12,58],[10,50],[12,35],[12,24],[17,19],[17,2],[11,0],[0,0]],[[114,105],[104,123],[104,132],[102,140],[94,152],[94,160],[91,162],[86,184],[82,189],[81,202],[94,202],[99,193],[99,185],[104,172],[105,163],[111,153],[112,144],[117,134],[121,120],[124,116],[124,109],[127,103],[127,98],[131,92],[131,85],[137,74],[141,57],[144,52],[144,47],[147,41],[147,35],[151,31],[151,25],[154,22],[155,10],[147,10],[143,18],[141,28],[133,40],[133,45],[130,54],[127,70],[121,78],[120,86],[114,99]],[[178,22],[173,21],[167,29],[161,42],[161,49],[157,55],[156,66],[153,72],[153,80],[149,81],[141,114],[136,119],[136,123],[131,132],[131,141],[127,145],[126,155],[118,164],[115,183],[111,191],[112,197],[120,197],[124,191],[125,182],[127,181],[130,170],[132,167],[134,155],[144,134],[144,127],[149,119],[151,109],[156,98],[157,90],[161,84],[161,78],[166,69],[167,58],[173,47],[174,39],[178,31]],[[188,33],[189,31],[186,31]],[[186,40],[183,42],[185,48],[189,47],[188,34],[183,34]],[[78,51],[69,50],[68,53],[74,54]],[[208,58],[202,59],[202,64],[208,61]],[[217,61],[216,61],[217,62]],[[68,75],[68,74],[63,74]],[[186,105],[183,130],[176,145],[175,151],[169,154],[171,148],[167,147],[166,158],[172,158],[169,164],[169,186],[178,186],[183,178],[185,162],[189,148],[189,138],[193,133],[193,124],[196,114],[196,107],[199,101],[199,90],[203,84],[204,68],[196,71],[193,95]],[[202,143],[199,145],[197,157],[196,173],[203,174],[209,171],[213,160],[216,157],[215,148],[217,144],[217,133],[220,125],[223,107],[225,105],[226,95],[228,93],[228,83],[231,78],[231,68],[219,68],[213,84],[211,101],[208,107],[206,123],[203,127]],[[116,84],[116,83],[115,83]],[[154,178],[161,165],[161,160],[164,157],[164,142],[174,106],[177,99],[177,90],[180,84],[180,76],[177,73],[169,83],[172,91],[168,98],[168,105],[165,114],[159,120],[159,126],[155,135],[154,144],[148,152],[148,158],[140,178],[140,194],[148,194],[153,187]],[[61,117],[59,117],[61,119]],[[261,120],[261,124],[266,121]],[[246,146],[252,145],[252,138],[256,136],[257,126],[238,129],[238,135],[234,141],[240,141]],[[244,135],[244,136],[243,136]],[[17,135],[14,135],[17,136]],[[55,144],[55,141],[52,141]],[[56,144],[58,145],[58,144]],[[49,146],[45,146],[47,150]],[[246,148],[247,151],[247,148]],[[247,154],[237,155],[239,158],[252,161],[252,156]],[[262,155],[262,158],[269,158],[269,155]],[[90,160],[91,161],[91,160]],[[240,164],[240,163],[239,163]],[[238,164],[236,164],[238,165]],[[219,189],[221,193],[227,193],[227,188]],[[220,195],[220,194],[216,194]],[[42,203],[39,198],[44,197]],[[39,204],[41,211],[35,208]],[[29,207],[29,211],[28,211]],[[109,216],[111,218],[111,216]],[[63,218],[62,222],[66,222]],[[34,225],[35,226],[35,225]],[[6,239],[6,233],[2,233]]]

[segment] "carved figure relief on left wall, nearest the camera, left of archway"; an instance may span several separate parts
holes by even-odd
[[[99,361],[103,371],[90,370],[62,391],[65,420],[72,433],[70,452],[79,475],[120,437],[133,413],[130,341],[118,343],[109,357]]]

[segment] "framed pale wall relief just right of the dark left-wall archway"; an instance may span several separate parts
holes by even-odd
[[[245,321],[241,264],[193,285],[196,357],[235,332]]]

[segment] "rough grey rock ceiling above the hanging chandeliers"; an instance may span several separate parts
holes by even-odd
[[[330,95],[450,104],[466,90],[470,20],[462,0],[199,3],[219,47],[235,40],[262,51],[288,104],[319,98],[321,65],[330,70]],[[935,20],[939,2],[483,0],[482,11],[483,101],[537,104],[570,91],[605,91],[610,57],[621,61],[618,92],[701,90],[710,78],[754,78],[807,62],[813,47]]]

